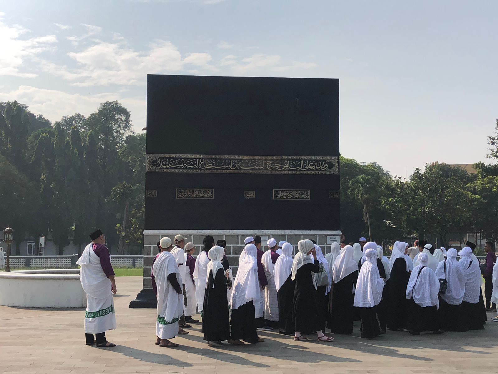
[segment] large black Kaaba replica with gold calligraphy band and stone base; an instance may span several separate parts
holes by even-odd
[[[339,80],[147,76],[143,290],[162,236],[339,240]]]

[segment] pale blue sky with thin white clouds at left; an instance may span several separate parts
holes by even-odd
[[[491,163],[496,14],[496,0],[1,1],[0,101],[57,121],[118,100],[140,132],[146,74],[339,78],[343,156],[402,177]]]

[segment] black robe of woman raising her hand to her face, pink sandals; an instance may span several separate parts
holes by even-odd
[[[317,291],[313,285],[311,272],[318,273],[318,260],[297,269],[294,287],[292,326],[294,331],[311,333],[323,329],[319,315]]]

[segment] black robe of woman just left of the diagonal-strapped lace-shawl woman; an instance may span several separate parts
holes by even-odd
[[[410,273],[406,271],[406,260],[397,258],[391,269],[389,279],[389,295],[387,300],[387,328],[389,330],[406,329],[406,316],[408,301],[406,300],[406,287]]]

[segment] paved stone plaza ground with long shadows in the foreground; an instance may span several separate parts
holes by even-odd
[[[336,342],[294,342],[260,332],[264,343],[208,347],[201,326],[177,337],[176,349],[155,342],[155,309],[128,309],[142,277],[117,278],[114,349],[84,345],[82,309],[0,306],[0,373],[497,373],[498,323],[485,331],[420,335],[388,332],[375,340],[335,335]],[[0,290],[1,292],[1,290]],[[47,290],[50,292],[50,290]],[[488,314],[488,317],[491,317]]]

